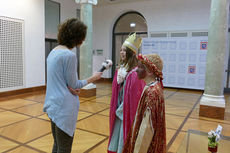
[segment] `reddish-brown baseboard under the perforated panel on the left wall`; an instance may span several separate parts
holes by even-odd
[[[43,91],[43,90],[46,90],[46,86],[37,86],[37,87],[24,88],[24,89],[12,90],[12,91],[5,91],[5,92],[0,92],[0,98],[6,96],[20,95],[20,94],[30,93],[35,91]]]

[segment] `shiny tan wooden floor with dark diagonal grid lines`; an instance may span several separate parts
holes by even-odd
[[[218,124],[230,136],[230,96],[225,120],[199,117],[201,91],[165,89],[167,151],[176,152],[188,129],[208,132]],[[80,98],[72,153],[106,153],[109,136],[111,84],[97,84],[97,96]],[[50,121],[42,111],[45,92],[0,98],[0,152],[51,152]]]

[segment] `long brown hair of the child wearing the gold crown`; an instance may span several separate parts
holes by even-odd
[[[125,61],[120,60],[120,64],[128,65],[128,72],[138,65],[136,54],[128,47],[126,47]]]

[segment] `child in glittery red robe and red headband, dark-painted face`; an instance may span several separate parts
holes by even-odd
[[[157,54],[139,55],[137,75],[146,86],[123,153],[166,153],[163,62]]]

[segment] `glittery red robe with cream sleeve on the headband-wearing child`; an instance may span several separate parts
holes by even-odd
[[[123,153],[166,153],[165,103],[158,81],[145,86]]]

